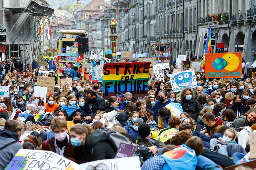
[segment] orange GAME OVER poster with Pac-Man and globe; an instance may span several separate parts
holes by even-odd
[[[205,54],[205,78],[241,78],[242,53]]]

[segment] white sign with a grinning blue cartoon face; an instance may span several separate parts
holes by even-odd
[[[185,87],[197,87],[195,71],[193,69],[170,74],[170,81],[174,92],[179,92]]]

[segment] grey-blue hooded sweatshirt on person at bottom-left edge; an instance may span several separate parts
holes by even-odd
[[[0,151],[0,169],[4,169],[8,163],[11,162],[15,154],[22,149],[17,133],[13,133],[9,130],[2,130],[0,132],[0,147],[13,141],[16,141],[16,143],[13,143]]]

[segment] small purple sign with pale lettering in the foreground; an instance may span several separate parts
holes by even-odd
[[[125,158],[133,156],[135,146],[131,144],[120,143],[115,158]]]

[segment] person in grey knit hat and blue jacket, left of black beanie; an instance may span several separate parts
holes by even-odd
[[[139,136],[138,127],[144,123],[142,118],[137,118],[134,120],[133,125],[125,126],[124,129],[128,134],[132,136],[132,142],[136,142],[137,137]]]

